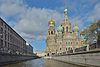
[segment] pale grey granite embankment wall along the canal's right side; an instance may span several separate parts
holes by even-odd
[[[79,52],[66,54],[62,56],[55,56],[52,59],[68,62],[82,66],[99,66],[100,67],[100,50],[93,50],[87,52]]]

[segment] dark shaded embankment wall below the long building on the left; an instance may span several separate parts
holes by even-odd
[[[26,55],[12,55],[12,54],[2,54],[0,53],[0,65],[15,63],[25,60],[31,60],[38,58],[37,56],[26,56]]]

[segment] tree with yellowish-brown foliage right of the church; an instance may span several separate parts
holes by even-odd
[[[100,20],[93,22],[81,31],[80,35],[84,36],[87,43],[92,44],[97,42],[97,47],[100,47]]]

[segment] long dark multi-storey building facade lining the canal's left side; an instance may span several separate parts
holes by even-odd
[[[26,41],[0,18],[0,51],[5,48],[20,53],[27,50],[33,52],[33,48],[27,49]]]

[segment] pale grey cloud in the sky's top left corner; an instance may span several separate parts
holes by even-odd
[[[20,15],[25,12],[25,7],[20,0],[1,0],[0,13],[6,16]]]

